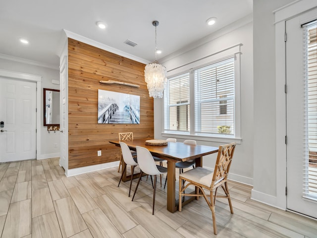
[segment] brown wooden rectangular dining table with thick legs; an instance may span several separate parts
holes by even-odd
[[[147,140],[152,140],[151,138],[136,138],[133,140],[123,141],[128,145],[130,150],[136,151],[136,146],[141,146],[147,148],[151,154],[155,157],[164,159],[167,161],[167,210],[174,213],[178,210],[178,199],[176,199],[176,186],[175,186],[175,163],[181,161],[188,161],[195,159],[196,167],[203,166],[203,156],[210,155],[218,152],[218,147],[212,147],[207,145],[189,145],[182,142],[167,142],[167,145],[156,146],[156,145],[146,145]],[[119,140],[110,140],[109,143],[120,147]],[[126,175],[126,170],[124,170],[126,164],[122,163],[122,173],[124,173],[122,181],[129,180],[131,177]],[[123,172],[124,171],[124,172]],[[134,175],[137,178],[138,175]],[[194,192],[199,192],[198,189]],[[194,200],[195,197],[184,198],[182,200],[182,205],[189,203]]]

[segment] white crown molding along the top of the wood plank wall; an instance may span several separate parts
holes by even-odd
[[[102,49],[102,50],[111,52],[111,53],[116,54],[116,55],[119,55],[119,56],[123,56],[123,57],[128,58],[128,59],[131,59],[131,60],[135,60],[135,61],[138,61],[138,62],[141,62],[141,63],[144,63],[144,64],[150,63],[149,60],[144,60],[144,59],[139,58],[139,57],[137,57],[137,56],[134,56],[134,55],[128,54],[128,53],[126,53],[126,52],[117,50],[117,49],[115,49],[115,48],[113,48],[113,47],[107,46],[107,45],[102,44],[102,43],[100,43],[100,42],[98,42],[98,41],[94,41],[94,40],[89,39],[89,38],[87,38],[87,37],[84,37],[84,36],[78,35],[78,34],[76,34],[76,33],[70,32],[70,31],[68,31],[68,30],[65,30],[65,29],[64,29],[64,32],[65,32],[65,34],[66,34],[66,36],[67,36],[68,38],[71,38],[71,39],[74,39],[74,40],[77,40],[77,41],[86,43],[86,44],[88,44],[88,45],[97,47],[97,48],[99,48],[99,49]]]

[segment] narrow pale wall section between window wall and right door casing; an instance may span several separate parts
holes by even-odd
[[[252,198],[285,209],[277,197],[277,187],[286,167],[277,171],[276,130],[285,124],[276,123],[276,112],[285,108],[276,108],[276,93],[283,94],[283,88],[276,91],[275,77],[275,25],[273,11],[293,0],[255,0],[253,2],[253,58],[254,58],[254,188]],[[285,78],[279,78],[284,80]],[[285,97],[285,96],[284,96]],[[285,146],[285,143],[284,145]],[[286,149],[286,148],[285,148]]]

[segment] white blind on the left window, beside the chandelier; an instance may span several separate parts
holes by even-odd
[[[164,130],[190,130],[189,72],[168,78],[164,97]]]

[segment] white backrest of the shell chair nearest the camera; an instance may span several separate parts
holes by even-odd
[[[150,151],[141,146],[136,146],[136,149],[140,169],[148,175],[159,175],[160,172]]]

